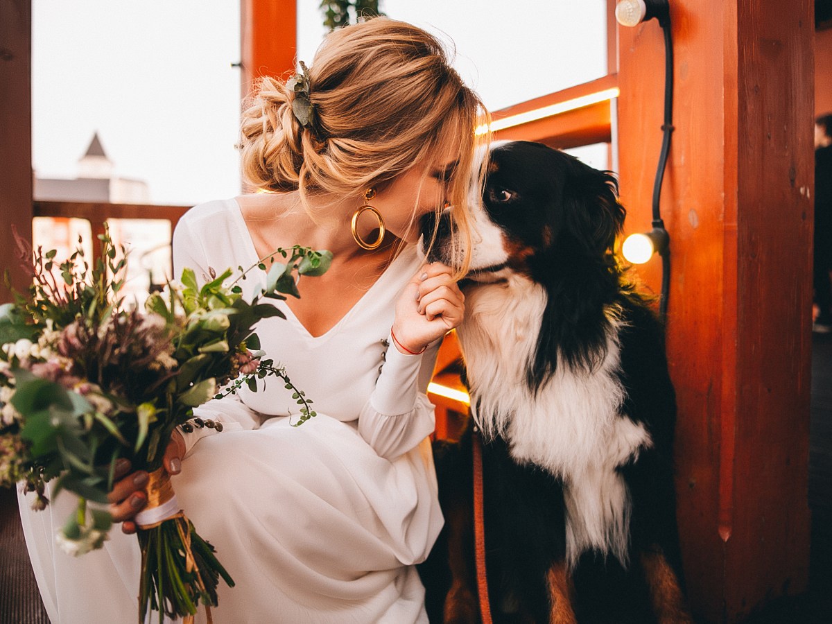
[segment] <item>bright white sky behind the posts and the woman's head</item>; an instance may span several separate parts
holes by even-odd
[[[497,110],[606,74],[606,4],[382,0],[381,10],[453,41],[463,79]],[[298,12],[298,58],[311,64],[325,33],[319,0]],[[98,131],[116,175],[146,181],[154,203],[239,192],[239,24],[235,0],[34,0],[37,176],[77,176]]]

